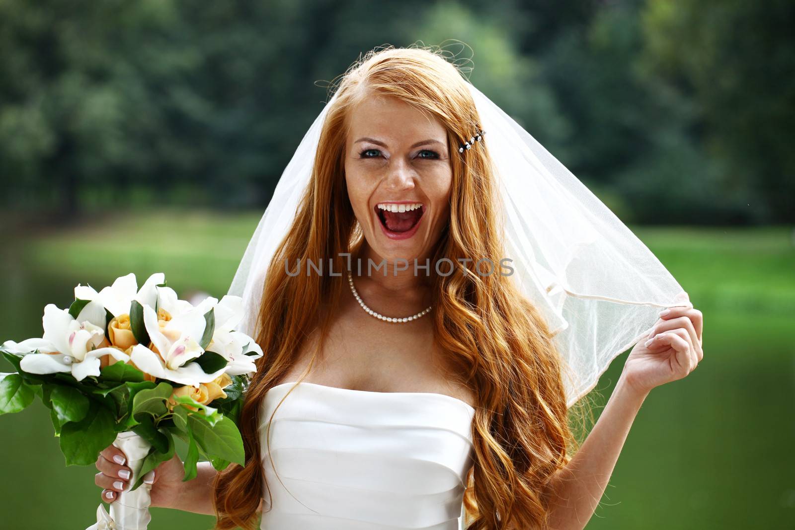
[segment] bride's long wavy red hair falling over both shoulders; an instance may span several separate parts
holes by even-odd
[[[314,362],[334,312],[321,308],[334,308],[347,288],[344,277],[291,277],[282,264],[331,257],[334,269],[343,270],[339,254],[362,242],[344,181],[348,110],[370,94],[393,96],[440,120],[452,146],[466,141],[480,124],[461,72],[440,48],[375,48],[342,75],[337,91],[308,188],[266,274],[254,332],[265,355],[258,359],[239,422],[246,463],[231,464],[215,479],[216,530],[256,528],[268,493],[261,458],[270,456],[260,447],[262,400],[294,366],[307,330],[316,329],[321,340]],[[450,220],[432,262],[446,257],[457,268],[432,284],[434,340],[449,355],[451,377],[475,393],[475,462],[464,492],[467,528],[545,528],[550,500],[544,486],[579,442],[568,423],[564,362],[545,320],[510,277],[475,273],[480,259],[496,264],[503,257],[498,195],[484,138],[465,156],[454,150],[451,157]],[[465,262],[472,266],[459,258],[470,258]]]

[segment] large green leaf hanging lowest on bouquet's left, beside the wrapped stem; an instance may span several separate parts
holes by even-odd
[[[91,401],[88,413],[80,421],[70,421],[60,429],[60,451],[67,466],[89,466],[99,451],[116,439],[111,411]]]

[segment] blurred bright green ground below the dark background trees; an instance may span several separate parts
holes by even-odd
[[[41,336],[45,304],[163,272],[184,292],[226,294],[262,212],[111,212],[45,233],[7,234],[0,340]],[[787,227],[638,227],[704,311],[703,364],[643,404],[588,528],[792,528],[795,520],[795,246]],[[599,381],[604,402],[626,353]],[[4,365],[3,371],[8,371]],[[598,410],[596,413],[598,414]],[[38,401],[0,418],[0,513],[25,528],[85,528],[94,467],[65,467]],[[184,455],[184,447],[178,447]],[[58,521],[52,526],[53,517]],[[211,516],[153,509],[149,528],[211,528]]]

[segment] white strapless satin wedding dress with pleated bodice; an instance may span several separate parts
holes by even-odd
[[[294,385],[274,386],[262,403],[262,466],[272,497],[263,489],[262,530],[463,528],[474,451],[470,404],[440,393],[304,381],[273,416],[269,458],[270,415]]]

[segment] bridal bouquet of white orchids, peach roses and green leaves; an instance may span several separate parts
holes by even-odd
[[[67,466],[94,464],[111,443],[127,456],[132,487],[110,515],[100,504],[90,528],[146,528],[151,486],[143,476],[173,457],[174,436],[188,443],[184,481],[196,477],[200,455],[216,470],[244,463],[236,422],[262,349],[234,331],[242,311],[239,296],[194,306],[163,273],[140,289],[130,273],[99,292],[78,284],[68,309],[45,307],[41,339],[0,346],[16,369],[0,373],[0,414],[38,396]]]

